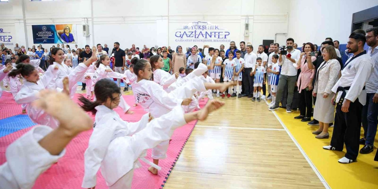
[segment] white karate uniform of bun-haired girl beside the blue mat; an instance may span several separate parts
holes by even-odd
[[[14,96],[14,100],[17,104],[27,104],[26,110],[28,116],[33,122],[41,125],[48,125],[52,128],[56,128],[59,125],[59,122],[52,116],[46,114],[45,111],[31,107],[30,104],[38,99],[37,94],[40,90],[48,88],[48,85],[53,83],[58,72],[58,70],[55,70],[54,68],[54,66],[48,67],[45,74],[39,77],[37,84],[25,80],[20,91]]]

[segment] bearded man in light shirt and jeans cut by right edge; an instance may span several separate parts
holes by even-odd
[[[365,145],[359,153],[373,152],[375,134],[377,132],[378,117],[378,27],[366,30],[366,43],[370,46],[367,55],[372,57],[374,70],[366,82],[366,104],[362,109],[362,126],[364,138],[360,144]]]

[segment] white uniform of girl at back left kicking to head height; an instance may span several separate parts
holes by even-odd
[[[73,98],[76,93],[77,82],[84,79],[84,74],[88,70],[88,67],[84,63],[80,63],[74,70],[71,70],[67,65],[59,64],[57,62],[54,62],[51,66],[57,66],[59,69],[54,78],[55,83],[53,82],[49,84],[48,88],[63,88],[63,79],[68,76],[68,88],[70,89],[70,96]]]

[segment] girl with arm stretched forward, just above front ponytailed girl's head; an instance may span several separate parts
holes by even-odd
[[[91,89],[92,91],[95,89],[94,86],[96,85],[96,82],[104,78],[107,78],[107,79],[117,78],[117,79],[126,80],[124,74],[113,71],[112,69],[110,69],[109,65],[110,65],[109,56],[107,54],[101,55],[100,58],[96,62],[97,69],[95,73],[93,73],[93,76],[92,76],[92,89]],[[122,108],[124,113],[130,113],[130,114],[134,113],[133,111],[129,110],[130,106],[126,103],[124,98],[121,98],[119,107]]]

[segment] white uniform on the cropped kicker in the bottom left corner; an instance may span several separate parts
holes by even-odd
[[[40,125],[14,141],[6,149],[6,162],[0,166],[0,186],[4,189],[29,189],[40,174],[65,154],[51,155],[38,143],[53,129]]]

